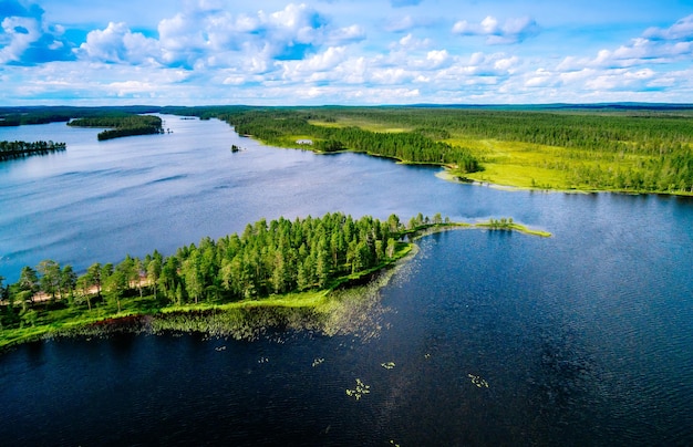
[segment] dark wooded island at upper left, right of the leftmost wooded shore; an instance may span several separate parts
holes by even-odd
[[[164,133],[162,118],[153,115],[107,114],[72,119],[68,125],[74,127],[108,127],[108,129],[99,133],[99,141]]]

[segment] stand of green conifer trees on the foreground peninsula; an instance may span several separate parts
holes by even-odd
[[[351,274],[376,270],[392,262],[413,229],[442,224],[421,214],[408,228],[395,215],[386,221],[365,216],[353,219],[341,212],[322,218],[261,219],[239,233],[218,240],[204,238],[164,257],[154,251],[144,258],[126,256],[114,263],[93,263],[82,274],[54,260],[24,267],[15,283],[0,291],[7,303],[2,326],[32,324],[37,304],[62,302],[92,310],[100,303],[121,309],[128,297],[143,297],[168,305],[203,300],[229,302],[271,294],[325,289]]]

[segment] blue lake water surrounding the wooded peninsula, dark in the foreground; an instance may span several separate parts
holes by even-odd
[[[0,355],[3,444],[693,444],[691,199],[454,184],[438,168],[164,119],[172,134],[107,142],[61,123],[0,128],[68,143],[0,164],[0,274],[46,258],[82,271],[338,210],[513,217],[554,237],[423,238],[349,334],[19,346]],[[358,401],[356,380],[370,386]]]

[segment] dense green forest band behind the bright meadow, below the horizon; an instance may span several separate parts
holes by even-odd
[[[594,150],[662,155],[676,143],[691,143],[690,111],[621,112],[479,110],[461,107],[325,107],[316,119],[358,118],[393,127],[438,129],[475,138]],[[444,138],[443,138],[444,139]]]

